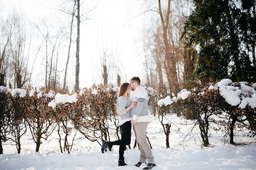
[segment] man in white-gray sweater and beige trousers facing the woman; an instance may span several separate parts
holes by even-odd
[[[131,109],[131,124],[135,133],[135,139],[139,144],[140,159],[135,166],[140,167],[142,163],[147,163],[143,170],[150,170],[155,165],[150,145],[146,139],[146,130],[149,124],[148,116],[148,93],[145,88],[140,86],[139,77],[130,79],[130,86],[134,94],[131,96],[132,102],[137,102],[137,106]]]

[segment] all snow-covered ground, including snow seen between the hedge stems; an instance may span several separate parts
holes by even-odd
[[[188,135],[193,121],[176,115],[171,115],[168,119],[171,121],[170,148],[166,148],[166,136],[159,120],[150,117],[147,135],[157,164],[153,170],[256,170],[255,144],[223,145],[223,134],[211,132],[210,146],[202,148],[197,129]],[[142,170],[146,165],[142,164],[140,168],[132,166],[139,160],[138,148],[125,151],[125,162],[129,166],[120,167],[117,163],[118,146],[113,146],[111,152],[102,154],[97,142],[84,138],[76,141],[70,154],[60,153],[54,135],[56,134],[52,134],[51,140],[43,141],[39,152],[35,152],[36,144],[29,135],[22,137],[21,154],[15,153],[16,146],[4,143],[4,154],[0,155],[0,170]],[[241,138],[243,137],[237,138],[237,142]],[[133,145],[132,133],[131,148]]]

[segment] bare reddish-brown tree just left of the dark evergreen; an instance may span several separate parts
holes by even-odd
[[[180,91],[185,84],[184,67],[187,63],[184,62],[191,62],[184,60],[187,55],[184,54],[181,40],[184,9],[186,9],[184,2],[186,0],[158,0],[158,7],[148,10],[153,11],[154,14],[156,12],[158,15],[153,15],[150,18],[151,25],[146,31],[148,38],[144,41],[144,46],[148,49],[145,51],[150,51],[150,53],[145,52],[146,69],[149,70],[147,72],[148,79],[157,79],[158,81],[154,81],[154,84],[163,84],[167,80],[168,86],[174,93]],[[151,60],[149,59],[150,55],[153,57]],[[152,61],[154,64],[150,64]]]

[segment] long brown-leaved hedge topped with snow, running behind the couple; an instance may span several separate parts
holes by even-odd
[[[221,130],[224,141],[235,144],[236,132],[255,137],[256,84],[233,83],[224,79],[216,84],[198,84],[183,89],[177,95],[165,85],[146,87],[149,110],[157,117],[166,135],[166,147],[171,130],[167,115],[177,114],[195,119],[202,145],[209,145],[212,130]],[[118,88],[98,85],[83,88],[78,93],[57,89],[10,89],[0,86],[0,146],[11,141],[20,149],[19,139],[31,132],[39,150],[43,140],[58,131],[61,152],[68,152],[75,140],[70,134],[79,132],[90,141],[101,145],[103,139],[120,139],[119,119],[115,114]],[[10,131],[10,129],[13,129]],[[64,148],[64,150],[63,150]],[[2,152],[0,148],[0,153]]]

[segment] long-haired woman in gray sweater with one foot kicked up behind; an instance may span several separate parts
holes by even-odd
[[[119,124],[121,127],[121,140],[117,141],[107,141],[104,140],[101,152],[104,153],[106,148],[112,148],[113,145],[119,145],[119,160],[118,166],[126,166],[124,162],[124,150],[126,145],[130,145],[131,141],[131,108],[137,105],[137,102],[132,102],[130,97],[130,84],[124,82],[119,87],[119,92],[117,95],[117,115],[119,115]]]

